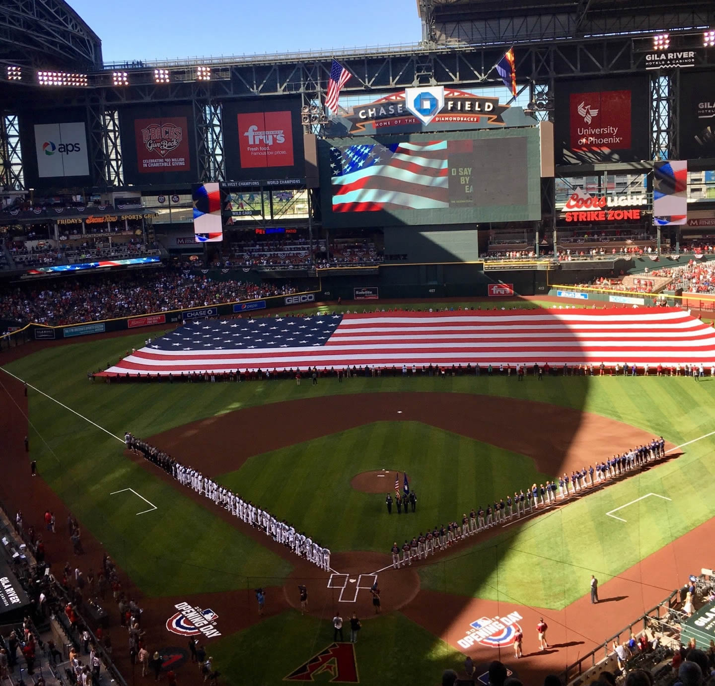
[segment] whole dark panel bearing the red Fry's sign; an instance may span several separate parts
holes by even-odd
[[[222,116],[229,182],[304,181],[300,98],[229,101]]]

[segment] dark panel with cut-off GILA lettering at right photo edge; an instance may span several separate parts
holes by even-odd
[[[715,71],[680,75],[680,156],[715,157]]]

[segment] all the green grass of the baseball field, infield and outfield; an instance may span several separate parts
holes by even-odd
[[[287,381],[92,384],[87,380],[89,370],[103,369],[127,349],[141,347],[146,335],[48,347],[6,368],[116,437],[127,430],[149,437],[242,407],[315,395],[430,390],[538,400],[553,404],[554,412],[576,407],[662,434],[674,444],[715,430],[715,380],[709,378],[696,382],[684,377],[548,377],[538,383],[527,377],[518,383],[496,376],[356,377],[342,384],[321,380],[316,387],[297,387]],[[287,562],[218,520],[211,507],[194,504],[152,470],[124,457],[123,444],[116,437],[33,390],[29,407],[31,457],[38,461],[41,476],[147,595],[275,585],[290,573]],[[516,417],[514,430],[518,427]],[[595,445],[594,458],[625,447]],[[435,455],[447,456],[448,468],[433,469]],[[486,479],[476,479],[470,471],[475,460],[482,462]],[[393,528],[385,530],[384,495],[360,494],[349,483],[358,472],[393,466],[408,469],[418,492],[419,519],[411,513],[400,519],[393,514],[389,520]],[[459,595],[564,607],[583,595],[583,578],[591,573],[603,584],[711,517],[714,477],[715,435],[689,445],[677,460],[551,515],[508,527],[488,542],[458,548],[446,562],[420,570],[422,584]],[[481,494],[487,497],[488,490],[500,494],[513,490],[511,479],[523,487],[526,482],[541,482],[542,477],[523,456],[425,424],[401,422],[378,422],[254,457],[222,477],[246,497],[288,520],[300,520],[306,531],[324,538],[326,545],[330,542],[333,550],[380,551],[398,534],[411,535],[417,521],[431,526],[435,518],[458,517],[467,506],[478,504]],[[157,511],[137,517],[136,512],[146,507],[141,499],[131,492],[110,495],[125,488],[156,504]],[[630,505],[622,511],[626,523],[606,517],[609,510],[649,492],[671,500],[648,497]],[[277,683],[331,639],[327,625],[285,612],[212,643],[212,654],[232,684]],[[385,646],[389,654],[380,653]],[[255,660],[259,647],[264,647],[262,655],[268,651],[270,659]],[[399,660],[399,655],[408,654],[429,656],[424,671],[423,661],[415,661],[420,665],[420,682],[425,675],[436,681],[440,670],[457,660],[448,647],[395,613],[365,622],[358,645],[361,680],[389,682],[400,676],[415,680],[418,675],[408,675]]]

